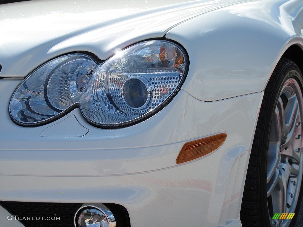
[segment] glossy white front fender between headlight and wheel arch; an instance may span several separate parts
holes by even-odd
[[[300,1],[247,2],[172,28],[166,38],[183,45],[190,59],[182,89],[203,101],[264,90],[285,50],[303,45],[302,7]]]

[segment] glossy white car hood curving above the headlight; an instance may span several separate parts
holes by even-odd
[[[28,1],[0,6],[0,77],[24,77],[56,56],[87,51],[106,60],[138,41],[240,0]]]

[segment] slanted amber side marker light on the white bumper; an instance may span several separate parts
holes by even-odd
[[[176,163],[184,163],[205,156],[216,150],[226,139],[226,133],[187,142],[182,147]]]

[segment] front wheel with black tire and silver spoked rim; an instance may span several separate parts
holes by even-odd
[[[303,188],[302,138],[297,135],[302,134],[302,84],[297,65],[282,58],[265,88],[261,104],[241,205],[242,226],[295,226]],[[288,121],[291,116],[295,120]],[[291,124],[287,126],[287,122]],[[276,199],[279,193],[281,201]],[[284,207],[285,212],[281,213],[295,213],[293,218],[272,219],[275,211],[283,211]]]

